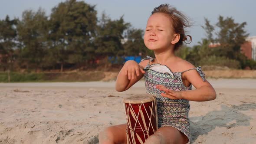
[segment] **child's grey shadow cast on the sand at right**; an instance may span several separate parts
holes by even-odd
[[[251,117],[240,112],[249,109],[256,109],[256,104],[244,103],[242,105],[231,105],[230,107],[221,105],[220,111],[210,111],[204,116],[190,117],[191,143],[194,143],[198,136],[208,134],[216,127],[249,126]],[[229,115],[229,117],[227,118],[226,115]],[[231,121],[236,122],[228,124]]]

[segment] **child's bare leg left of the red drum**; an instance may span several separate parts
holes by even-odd
[[[105,128],[98,134],[99,144],[126,144],[126,124]]]

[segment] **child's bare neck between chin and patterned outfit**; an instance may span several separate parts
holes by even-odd
[[[173,49],[168,49],[165,51],[154,51],[154,56],[156,58],[157,63],[165,64],[166,62],[171,62],[175,59],[175,54]]]

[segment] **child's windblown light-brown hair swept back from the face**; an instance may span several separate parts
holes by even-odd
[[[190,37],[191,43],[192,37],[189,35],[185,35],[184,31],[184,27],[191,26],[190,20],[187,18],[187,16],[178,11],[175,7],[171,7],[169,4],[161,4],[159,7],[155,7],[151,15],[153,15],[154,13],[167,14],[171,18],[171,22],[173,23],[172,28],[174,32],[180,34],[180,40],[174,45],[174,51],[182,46],[183,41],[186,41],[187,37]]]

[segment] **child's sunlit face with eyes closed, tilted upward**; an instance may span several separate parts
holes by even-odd
[[[171,19],[164,13],[154,13],[148,18],[144,44],[151,50],[167,49],[174,36]]]

